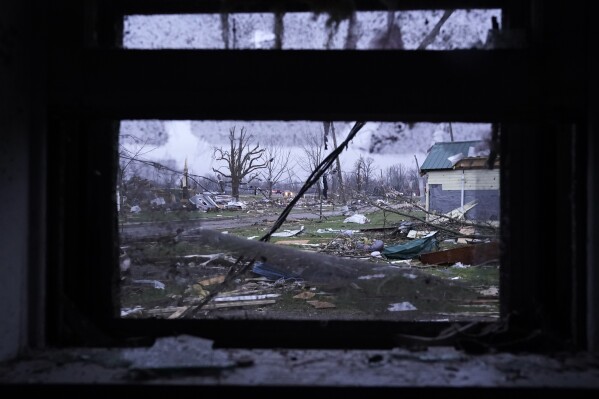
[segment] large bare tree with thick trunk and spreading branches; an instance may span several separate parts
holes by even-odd
[[[231,195],[239,201],[239,186],[244,178],[251,182],[258,177],[258,171],[266,167],[263,154],[266,151],[260,144],[253,144],[254,136],[241,128],[239,134],[235,126],[229,129],[229,149],[214,148],[213,157],[217,161],[225,161],[226,165],[218,169],[212,168],[214,173],[224,179],[231,179]]]

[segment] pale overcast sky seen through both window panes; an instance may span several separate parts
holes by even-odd
[[[407,50],[415,49],[443,13],[442,10],[396,12],[392,22],[396,32],[400,33],[401,46]],[[447,19],[427,50],[482,47],[491,27],[491,18],[496,17],[501,21],[500,16],[500,10],[457,10]],[[388,17],[386,12],[358,13],[355,26],[358,39],[355,48],[377,48],[376,39],[388,28]],[[343,48],[348,36],[347,20],[342,21],[336,29],[330,29],[327,28],[327,18],[325,14],[286,14],[283,48]],[[226,27],[222,24],[221,16],[212,14],[127,16],[124,22],[123,45],[126,48],[216,49],[228,46],[267,49],[274,45],[272,14],[230,15]],[[397,42],[395,44],[397,45]],[[211,173],[212,167],[222,165],[212,159],[213,148],[226,144],[228,131],[233,126],[238,129],[245,126],[249,133],[262,143],[270,137],[277,137],[280,143],[289,146],[293,163],[302,156],[302,150],[298,146],[302,134],[306,131],[322,132],[322,123],[302,121],[155,121],[151,125],[122,121],[121,125],[122,134],[138,137],[145,135],[152,138],[151,143],[147,145],[151,151],[144,155],[146,159],[170,161],[180,170],[187,159],[192,173],[199,175]],[[146,129],[142,131],[140,126]],[[337,122],[335,126],[338,141],[341,142],[349,132],[352,122]],[[490,133],[489,124],[453,123],[452,127],[456,141],[481,139]],[[425,122],[412,125],[401,122],[370,122],[341,155],[342,167],[349,170],[360,155],[372,157],[377,169],[385,169],[398,163],[410,168],[415,167],[414,156],[416,155],[418,162],[422,164],[434,136],[437,140],[449,140],[448,125]],[[138,146],[126,140],[123,144],[129,148]],[[301,174],[299,168],[296,168],[296,172]]]

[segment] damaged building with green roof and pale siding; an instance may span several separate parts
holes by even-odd
[[[487,167],[483,141],[435,143],[420,168],[426,179],[426,209],[447,213],[471,201],[470,220],[499,220],[499,158]]]

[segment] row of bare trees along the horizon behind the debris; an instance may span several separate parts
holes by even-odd
[[[139,201],[150,185],[182,187],[183,179],[188,179],[186,183],[196,191],[224,192],[236,200],[242,192],[260,193],[269,199],[275,189],[297,192],[304,182],[297,175],[296,168],[311,174],[329,150],[337,148],[332,122],[324,122],[320,131],[305,131],[303,137],[301,155],[292,159],[291,150],[283,143],[269,140],[262,144],[245,127],[232,126],[227,144],[212,149],[212,159],[219,166],[212,168],[211,174],[200,176],[178,170],[173,160],[148,160],[145,155],[156,147],[148,140],[127,133],[129,144],[125,146],[121,140],[119,146],[117,185],[122,204]],[[122,135],[121,139],[124,138]],[[420,195],[418,177],[417,168],[403,164],[383,170],[377,168],[372,157],[360,156],[352,165],[342,168],[337,158],[322,179],[316,182],[313,192],[319,199],[343,204],[364,194],[384,196],[388,190]]]

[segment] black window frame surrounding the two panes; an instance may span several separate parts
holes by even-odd
[[[112,304],[116,293],[108,289],[116,287],[118,264],[114,207],[118,128],[114,121],[351,119],[501,123],[500,291],[502,316],[510,315],[510,323],[507,332],[489,336],[488,343],[504,342],[506,336],[526,338],[541,331],[539,339],[525,342],[525,349],[584,348],[586,290],[581,266],[586,248],[575,244],[586,237],[585,189],[580,184],[586,177],[586,103],[580,95],[586,71],[580,70],[584,62],[566,62],[567,57],[579,60],[584,51],[578,44],[570,46],[580,39],[581,32],[567,32],[572,39],[567,42],[558,39],[550,27],[560,12],[573,15],[573,8],[539,10],[536,1],[452,2],[458,8],[502,8],[504,29],[527,32],[531,46],[524,49],[140,51],[113,45],[119,39],[122,15],[218,12],[221,3],[72,3],[58,2],[51,9],[53,20],[63,24],[53,28],[50,38],[51,43],[61,44],[51,46],[49,52],[49,342],[121,345],[188,333],[230,347],[386,348],[401,344],[398,333],[435,336],[447,328],[450,323],[125,320],[115,315]],[[242,2],[225,3],[245,10]],[[270,9],[271,3],[257,0],[251,10]],[[372,2],[356,4],[372,6]],[[448,6],[433,0],[398,4],[406,9]],[[303,2],[291,2],[292,9],[302,7]],[[580,29],[584,34],[586,28]],[[254,66],[251,80],[243,69],[240,71],[240,65]],[[390,79],[397,68],[416,78]],[[198,71],[202,71],[201,76]],[[295,79],[284,84],[273,80],[273,76],[281,77],[280,71]],[[547,80],[551,87],[547,87]],[[261,90],[254,90],[257,87]],[[375,95],[372,87],[380,88]],[[330,91],[339,93],[337,101],[330,101]],[[439,92],[434,99],[424,94],[433,91]],[[364,96],[372,101],[355,101]],[[542,152],[538,151],[539,143]],[[551,157],[567,167],[546,162]],[[533,169],[538,172],[540,190],[531,187],[523,173],[530,165],[543,165]],[[554,193],[549,187],[560,190]],[[550,209],[558,216],[556,223],[544,219],[537,202],[539,191],[551,202]],[[574,206],[571,198],[582,206]],[[544,245],[538,236],[530,236],[531,231],[545,231],[552,237],[568,231],[572,236],[564,251],[557,250],[559,241],[553,238],[546,252],[533,256],[529,248]],[[524,264],[530,267],[523,268]],[[555,293],[564,301],[560,302]]]

